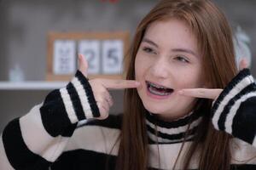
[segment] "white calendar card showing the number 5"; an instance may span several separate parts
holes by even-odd
[[[105,40],[102,42],[103,74],[120,74],[122,72],[124,42]]]

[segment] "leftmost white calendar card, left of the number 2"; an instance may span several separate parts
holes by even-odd
[[[67,75],[76,71],[76,44],[71,40],[54,42],[54,74]]]

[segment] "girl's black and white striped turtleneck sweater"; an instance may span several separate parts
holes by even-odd
[[[241,71],[212,105],[212,124],[234,136],[232,169],[256,169],[256,85],[249,70]],[[193,141],[203,113],[193,111],[173,122],[147,113],[148,167],[172,169],[183,140]],[[9,122],[0,140],[1,170],[114,169],[122,116],[100,116],[90,83],[77,72],[67,87],[54,90],[25,116]],[[184,134],[189,127],[187,138]],[[156,133],[158,134],[156,136]],[[183,156],[184,151],[181,152]],[[159,159],[160,158],[160,159]],[[177,169],[183,161],[178,159]],[[190,169],[198,168],[198,155]]]

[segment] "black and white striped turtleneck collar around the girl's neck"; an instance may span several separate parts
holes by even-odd
[[[192,140],[196,128],[201,122],[201,111],[190,112],[172,122],[165,122],[157,118],[156,115],[146,113],[146,126],[148,131],[149,144],[172,144],[183,142],[188,131],[186,141]]]

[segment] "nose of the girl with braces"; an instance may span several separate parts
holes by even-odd
[[[156,78],[168,77],[168,66],[165,59],[157,59],[150,68],[150,74]]]

